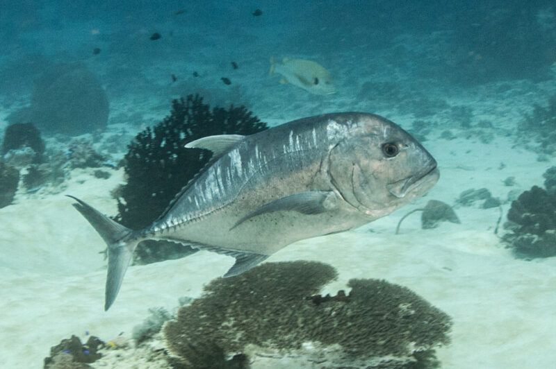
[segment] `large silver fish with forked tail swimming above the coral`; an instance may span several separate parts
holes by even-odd
[[[204,137],[186,147],[213,151],[211,163],[145,229],[130,230],[74,198],[108,244],[105,310],[141,241],[235,257],[229,277],[300,239],[386,216],[439,179],[436,161],[416,139],[361,112],[298,119],[250,136]]]

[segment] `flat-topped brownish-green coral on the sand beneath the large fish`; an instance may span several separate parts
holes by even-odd
[[[224,367],[213,358],[252,361],[261,352],[320,361],[325,368],[437,365],[434,348],[450,342],[450,317],[382,280],[350,280],[347,296],[315,296],[336,277],[332,266],[295,261],[213,280],[203,298],[179,309],[163,328],[173,365]]]

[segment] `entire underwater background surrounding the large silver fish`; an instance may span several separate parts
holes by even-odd
[[[104,312],[106,245],[65,195],[142,228],[208,160],[187,141],[350,111],[438,184],[231,285],[230,257],[145,242]],[[0,367],[552,368],[555,128],[553,1],[3,0]]]

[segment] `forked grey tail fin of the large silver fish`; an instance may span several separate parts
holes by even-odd
[[[104,310],[106,311],[111,307],[120,291],[127,266],[133,256],[133,250],[141,240],[130,237],[134,233],[133,230],[116,223],[79,198],[69,195],[68,197],[77,201],[73,204],[74,207],[89,221],[108,245],[108,276],[106,277],[104,301]]]

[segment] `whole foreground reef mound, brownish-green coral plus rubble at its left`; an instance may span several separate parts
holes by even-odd
[[[338,273],[316,261],[265,263],[217,278],[176,314],[149,309],[130,338],[52,347],[45,368],[417,369],[439,368],[451,318],[410,289],[350,280],[349,293],[320,295]],[[92,348],[91,348],[92,347]],[[70,363],[74,366],[54,366]]]

